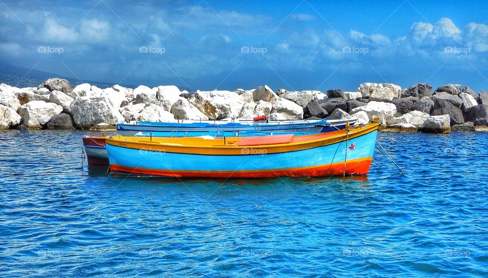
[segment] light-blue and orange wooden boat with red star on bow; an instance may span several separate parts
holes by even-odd
[[[377,123],[295,136],[107,137],[110,170],[176,178],[366,175]]]

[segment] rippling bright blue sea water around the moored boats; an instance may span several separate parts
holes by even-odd
[[[380,133],[406,175],[251,181],[88,171],[84,133],[0,132],[1,276],[488,275],[488,133]]]

